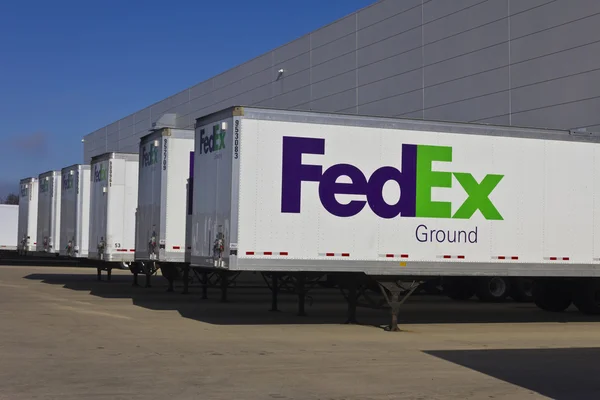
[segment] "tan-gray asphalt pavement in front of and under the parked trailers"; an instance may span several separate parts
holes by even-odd
[[[600,398],[600,318],[576,310],[415,296],[392,333],[385,311],[344,325],[336,290],[298,317],[288,294],[269,312],[266,288],[220,303],[131,282],[0,266],[0,399]]]

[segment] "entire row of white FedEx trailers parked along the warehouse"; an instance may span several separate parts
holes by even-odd
[[[349,305],[448,293],[600,313],[600,147],[572,131],[233,107],[194,130],[156,125],[107,153],[21,181],[22,252],[101,270],[241,272],[291,288],[323,277]],[[33,238],[33,239],[32,239]],[[150,275],[148,275],[150,276]],[[500,294],[498,294],[498,293]],[[369,294],[370,293],[370,294]],[[482,294],[483,293],[483,294]],[[499,297],[498,297],[499,296]],[[367,304],[368,303],[368,304]],[[395,328],[395,323],[393,323]]]

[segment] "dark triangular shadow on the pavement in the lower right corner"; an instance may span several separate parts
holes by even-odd
[[[443,350],[425,353],[552,399],[600,398],[600,348]]]

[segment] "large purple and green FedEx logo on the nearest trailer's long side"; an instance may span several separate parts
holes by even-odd
[[[433,162],[452,162],[452,147],[402,145],[401,169],[383,166],[370,177],[352,164],[336,164],[326,170],[321,165],[302,163],[303,154],[325,155],[325,139],[284,137],[281,212],[300,213],[302,182],[319,183],[319,199],[323,207],[338,217],[352,217],[367,204],[380,218],[420,217],[470,219],[477,210],[487,220],[502,220],[489,196],[503,175],[486,175],[481,182],[470,173],[433,170]],[[433,201],[433,188],[451,188],[455,177],[468,197],[452,214],[450,202]],[[345,182],[338,182],[346,177]],[[388,204],[383,198],[387,182],[400,186],[400,199]],[[359,195],[361,200],[340,203],[337,194]]]

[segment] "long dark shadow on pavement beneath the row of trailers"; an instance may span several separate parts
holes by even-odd
[[[131,275],[114,274],[111,281],[97,281],[96,271],[85,273],[37,273],[25,279],[64,288],[86,291],[103,298],[130,298],[136,306],[151,310],[179,312],[190,318],[217,325],[261,324],[340,324],[345,321],[346,302],[337,289],[316,288],[308,293],[307,316],[297,316],[297,297],[281,293],[280,312],[269,312],[271,293],[265,287],[231,288],[228,302],[221,303],[220,291],[209,289],[208,299],[201,298],[201,288],[192,286],[190,293],[182,295],[182,287],[168,293],[167,283],[161,276],[153,277],[153,287],[132,287]],[[103,277],[106,279],[105,277]],[[140,278],[140,284],[144,279]],[[383,327],[389,323],[389,311],[359,308],[361,324]],[[580,314],[575,309],[565,313],[547,313],[531,303],[507,302],[485,304],[476,300],[457,302],[443,296],[416,295],[402,306],[399,323],[530,323],[530,322],[600,322],[600,318]]]

